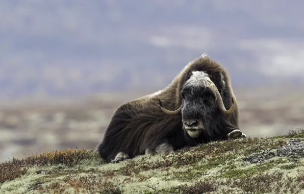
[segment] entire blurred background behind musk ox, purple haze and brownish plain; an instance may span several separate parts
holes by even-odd
[[[205,52],[229,71],[245,132],[273,135],[303,126],[303,6],[299,0],[1,1],[0,159],[44,147],[95,146],[120,103],[162,89]],[[74,98],[82,99],[70,105]]]

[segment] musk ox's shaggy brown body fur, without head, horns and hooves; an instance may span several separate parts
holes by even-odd
[[[191,138],[183,129],[182,114],[167,115],[161,110],[159,99],[169,110],[181,106],[183,85],[194,70],[205,71],[209,75],[222,96],[225,108],[229,109],[234,94],[227,71],[209,57],[197,58],[188,63],[171,84],[159,93],[142,96],[118,107],[103,141],[97,147],[100,156],[107,162],[113,160],[119,152],[133,158],[144,154],[147,148],[155,150],[164,142],[171,144],[174,150],[192,147],[212,140],[226,139],[228,133],[239,129],[236,101],[231,114],[224,115],[219,111],[212,114],[212,122],[208,124],[212,134],[201,132],[196,138]]]

